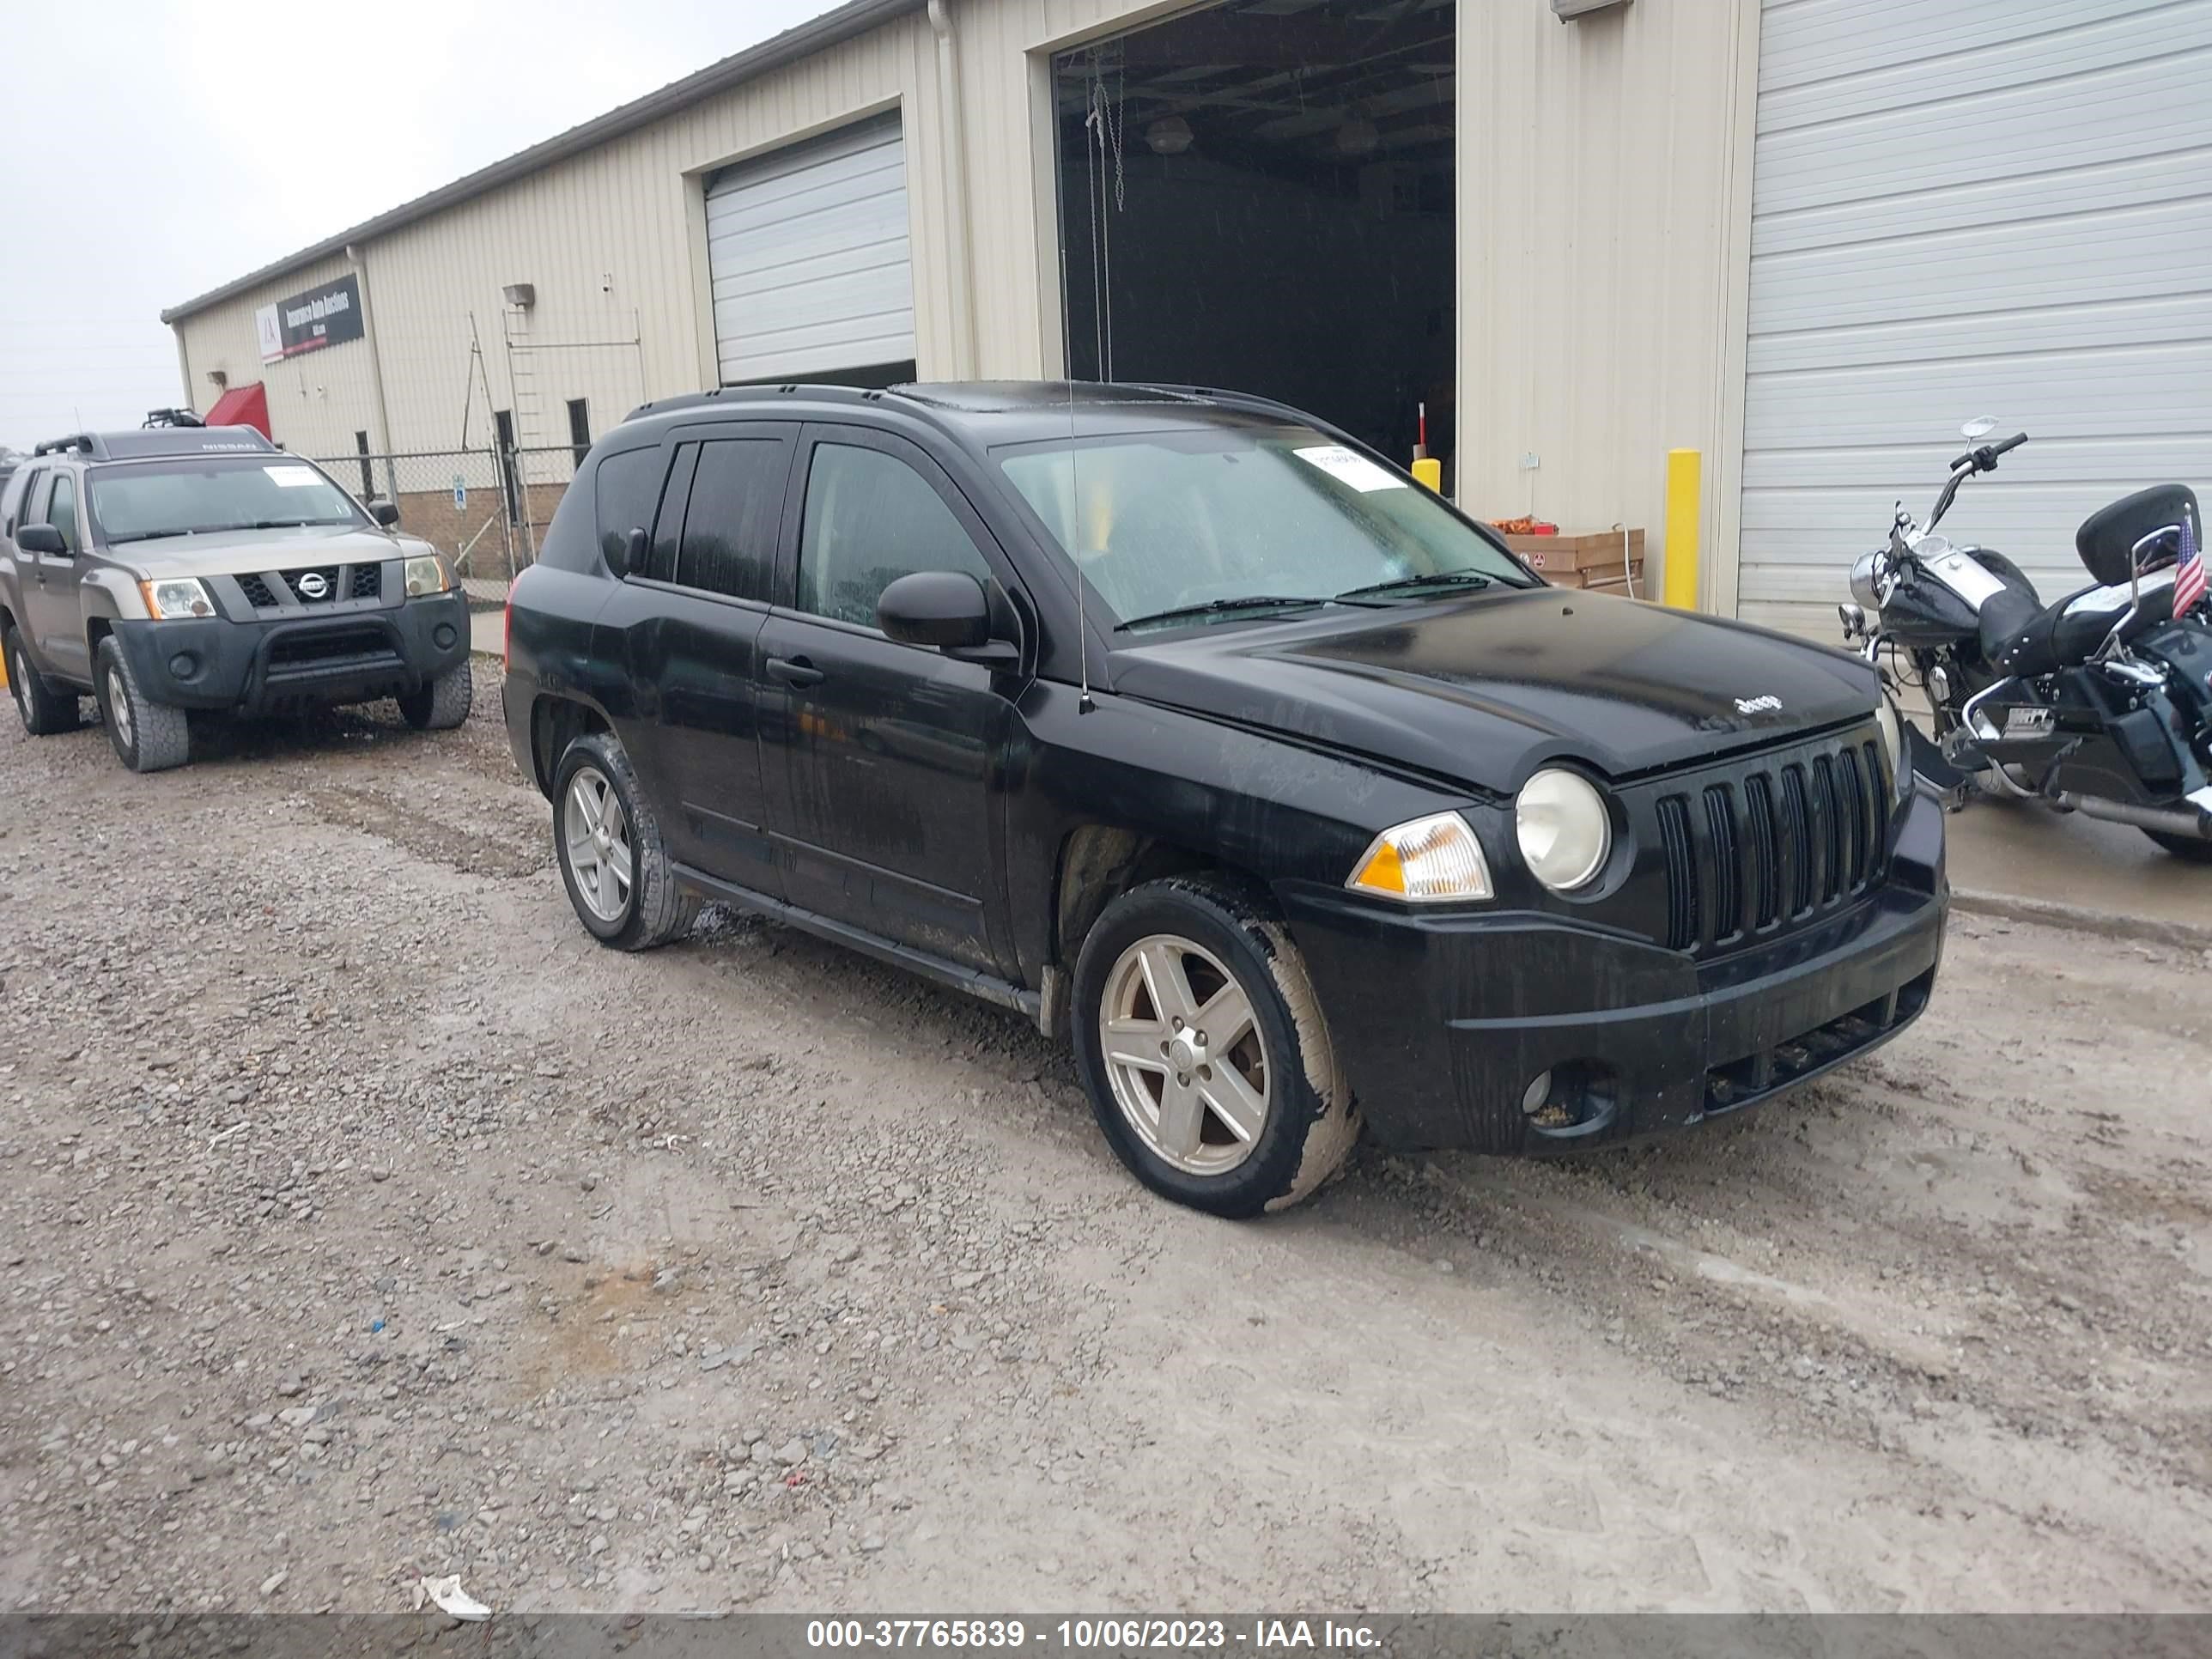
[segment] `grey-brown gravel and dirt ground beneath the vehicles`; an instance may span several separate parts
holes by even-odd
[[[495,668],[0,734],[0,1606],[2203,1608],[2201,953],[1745,1121],[1168,1208],[1020,1020],[575,925]]]

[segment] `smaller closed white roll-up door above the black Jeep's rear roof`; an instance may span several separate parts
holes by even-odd
[[[706,257],[723,385],[914,356],[898,117],[708,179]]]

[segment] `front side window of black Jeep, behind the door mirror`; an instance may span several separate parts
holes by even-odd
[[[799,531],[799,608],[874,628],[876,599],[916,571],[991,580],[953,509],[914,467],[880,449],[816,445]]]

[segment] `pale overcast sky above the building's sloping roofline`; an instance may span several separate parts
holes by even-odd
[[[184,398],[166,305],[832,4],[11,7],[0,445],[135,427]]]

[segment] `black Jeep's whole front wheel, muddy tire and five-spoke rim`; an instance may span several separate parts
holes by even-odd
[[[1192,1210],[1285,1210],[1358,1139],[1305,958],[1245,883],[1192,874],[1121,894],[1084,940],[1073,1024],[1106,1144]]]

